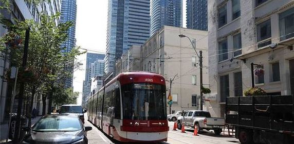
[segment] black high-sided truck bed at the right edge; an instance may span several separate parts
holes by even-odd
[[[294,133],[294,95],[228,97],[226,123]]]

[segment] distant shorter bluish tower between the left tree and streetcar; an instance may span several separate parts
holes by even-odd
[[[87,53],[86,56],[86,73],[85,73],[85,80],[83,81],[83,92],[82,92],[82,106],[85,106],[86,104],[86,98],[88,96],[88,94],[90,93],[90,82],[91,82],[91,77],[94,76],[94,73],[100,73],[101,71],[104,70],[98,70],[99,68],[102,68],[101,66],[104,66],[104,64],[102,65],[100,63],[100,60],[104,60],[105,55],[104,54],[95,54],[95,53]],[[91,69],[91,65],[92,64],[97,63],[96,67],[94,70]],[[95,71],[96,70],[96,71]],[[93,73],[93,72],[94,73]],[[103,73],[101,74],[103,75]]]

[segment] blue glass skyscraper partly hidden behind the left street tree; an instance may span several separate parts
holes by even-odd
[[[76,45],[76,19],[77,19],[77,1],[76,0],[62,0],[61,1],[61,22],[72,21],[73,25],[68,30],[67,40],[61,45],[66,47],[63,52],[70,52],[72,47]],[[68,67],[66,70],[71,71],[73,74],[73,68]],[[72,77],[66,78],[65,88],[72,86]]]

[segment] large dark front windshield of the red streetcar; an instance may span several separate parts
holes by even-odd
[[[164,85],[150,83],[123,85],[122,97],[124,119],[167,119]]]

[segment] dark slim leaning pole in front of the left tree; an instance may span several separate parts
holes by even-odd
[[[30,36],[30,28],[26,29],[25,47],[24,47],[23,64],[22,64],[22,66],[23,66],[22,67],[22,73],[24,73],[25,67],[27,65],[29,36]],[[22,112],[22,104],[23,104],[23,97],[24,97],[24,88],[25,88],[24,81],[20,81],[19,103],[17,105],[17,118],[16,118],[14,140],[20,140],[19,138],[21,138],[20,137],[20,132],[21,132],[21,112]]]

